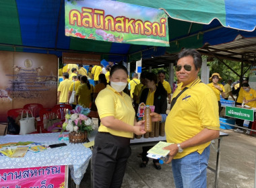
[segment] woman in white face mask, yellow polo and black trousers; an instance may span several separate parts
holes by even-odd
[[[110,85],[98,93],[96,106],[100,127],[92,151],[94,188],[121,187],[125,167],[131,155],[133,133],[145,134],[143,122],[136,122],[131,97],[123,92],[127,85],[125,66],[116,64],[110,70]]]

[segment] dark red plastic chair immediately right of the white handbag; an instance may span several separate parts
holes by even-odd
[[[37,131],[42,133],[49,133],[48,130],[44,129],[44,117],[46,120],[53,120],[57,117],[57,114],[53,111],[52,108],[43,108],[39,113],[40,121],[37,124]]]

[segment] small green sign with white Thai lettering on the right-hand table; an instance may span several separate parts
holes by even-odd
[[[254,121],[254,110],[241,107],[226,106],[226,116],[242,120]]]

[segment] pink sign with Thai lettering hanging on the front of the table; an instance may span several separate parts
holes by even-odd
[[[0,188],[67,187],[65,166],[0,169]]]

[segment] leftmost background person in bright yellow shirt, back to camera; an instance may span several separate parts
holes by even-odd
[[[69,87],[72,81],[69,81],[69,73],[63,73],[63,81],[59,83],[57,100],[60,104],[67,103],[67,97],[69,95]]]

